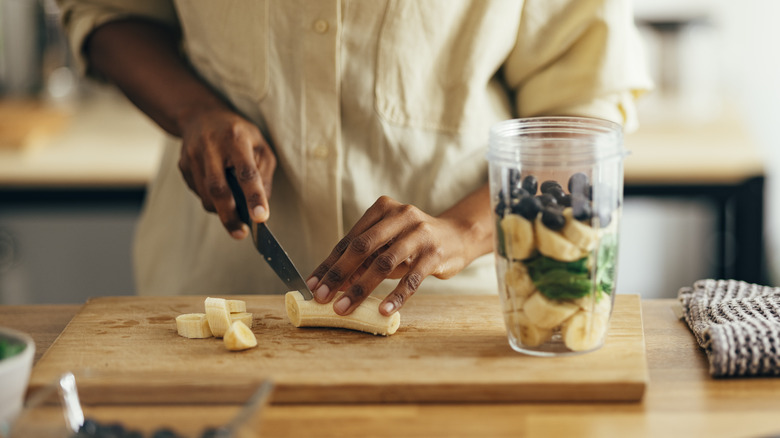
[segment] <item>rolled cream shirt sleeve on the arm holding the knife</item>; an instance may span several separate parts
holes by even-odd
[[[57,0],[57,4],[76,67],[82,75],[92,74],[84,56],[84,42],[101,25],[134,16],[179,26],[176,10],[168,0]]]

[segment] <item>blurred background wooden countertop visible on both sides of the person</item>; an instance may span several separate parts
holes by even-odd
[[[164,133],[112,89],[67,110],[59,134],[29,150],[0,148],[0,187],[143,188]],[[764,174],[760,151],[735,112],[707,122],[643,122],[625,138],[627,185],[734,184]]]

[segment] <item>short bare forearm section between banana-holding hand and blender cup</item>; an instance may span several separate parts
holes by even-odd
[[[441,219],[454,221],[463,230],[466,264],[493,250],[495,224],[490,208],[490,187],[483,184],[457,204],[439,215]]]

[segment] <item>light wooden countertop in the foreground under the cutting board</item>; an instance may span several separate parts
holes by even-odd
[[[271,405],[264,436],[757,437],[780,433],[780,379],[712,379],[675,300],[642,303],[650,384],[641,403]],[[0,306],[3,326],[30,333],[36,360],[79,307]],[[393,370],[388,370],[393,372]],[[235,406],[101,408],[128,425],[224,422]]]

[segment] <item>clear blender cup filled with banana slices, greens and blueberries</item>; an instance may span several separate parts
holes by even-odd
[[[514,350],[560,356],[604,344],[624,155],[621,127],[605,120],[540,117],[491,128],[496,274]]]

